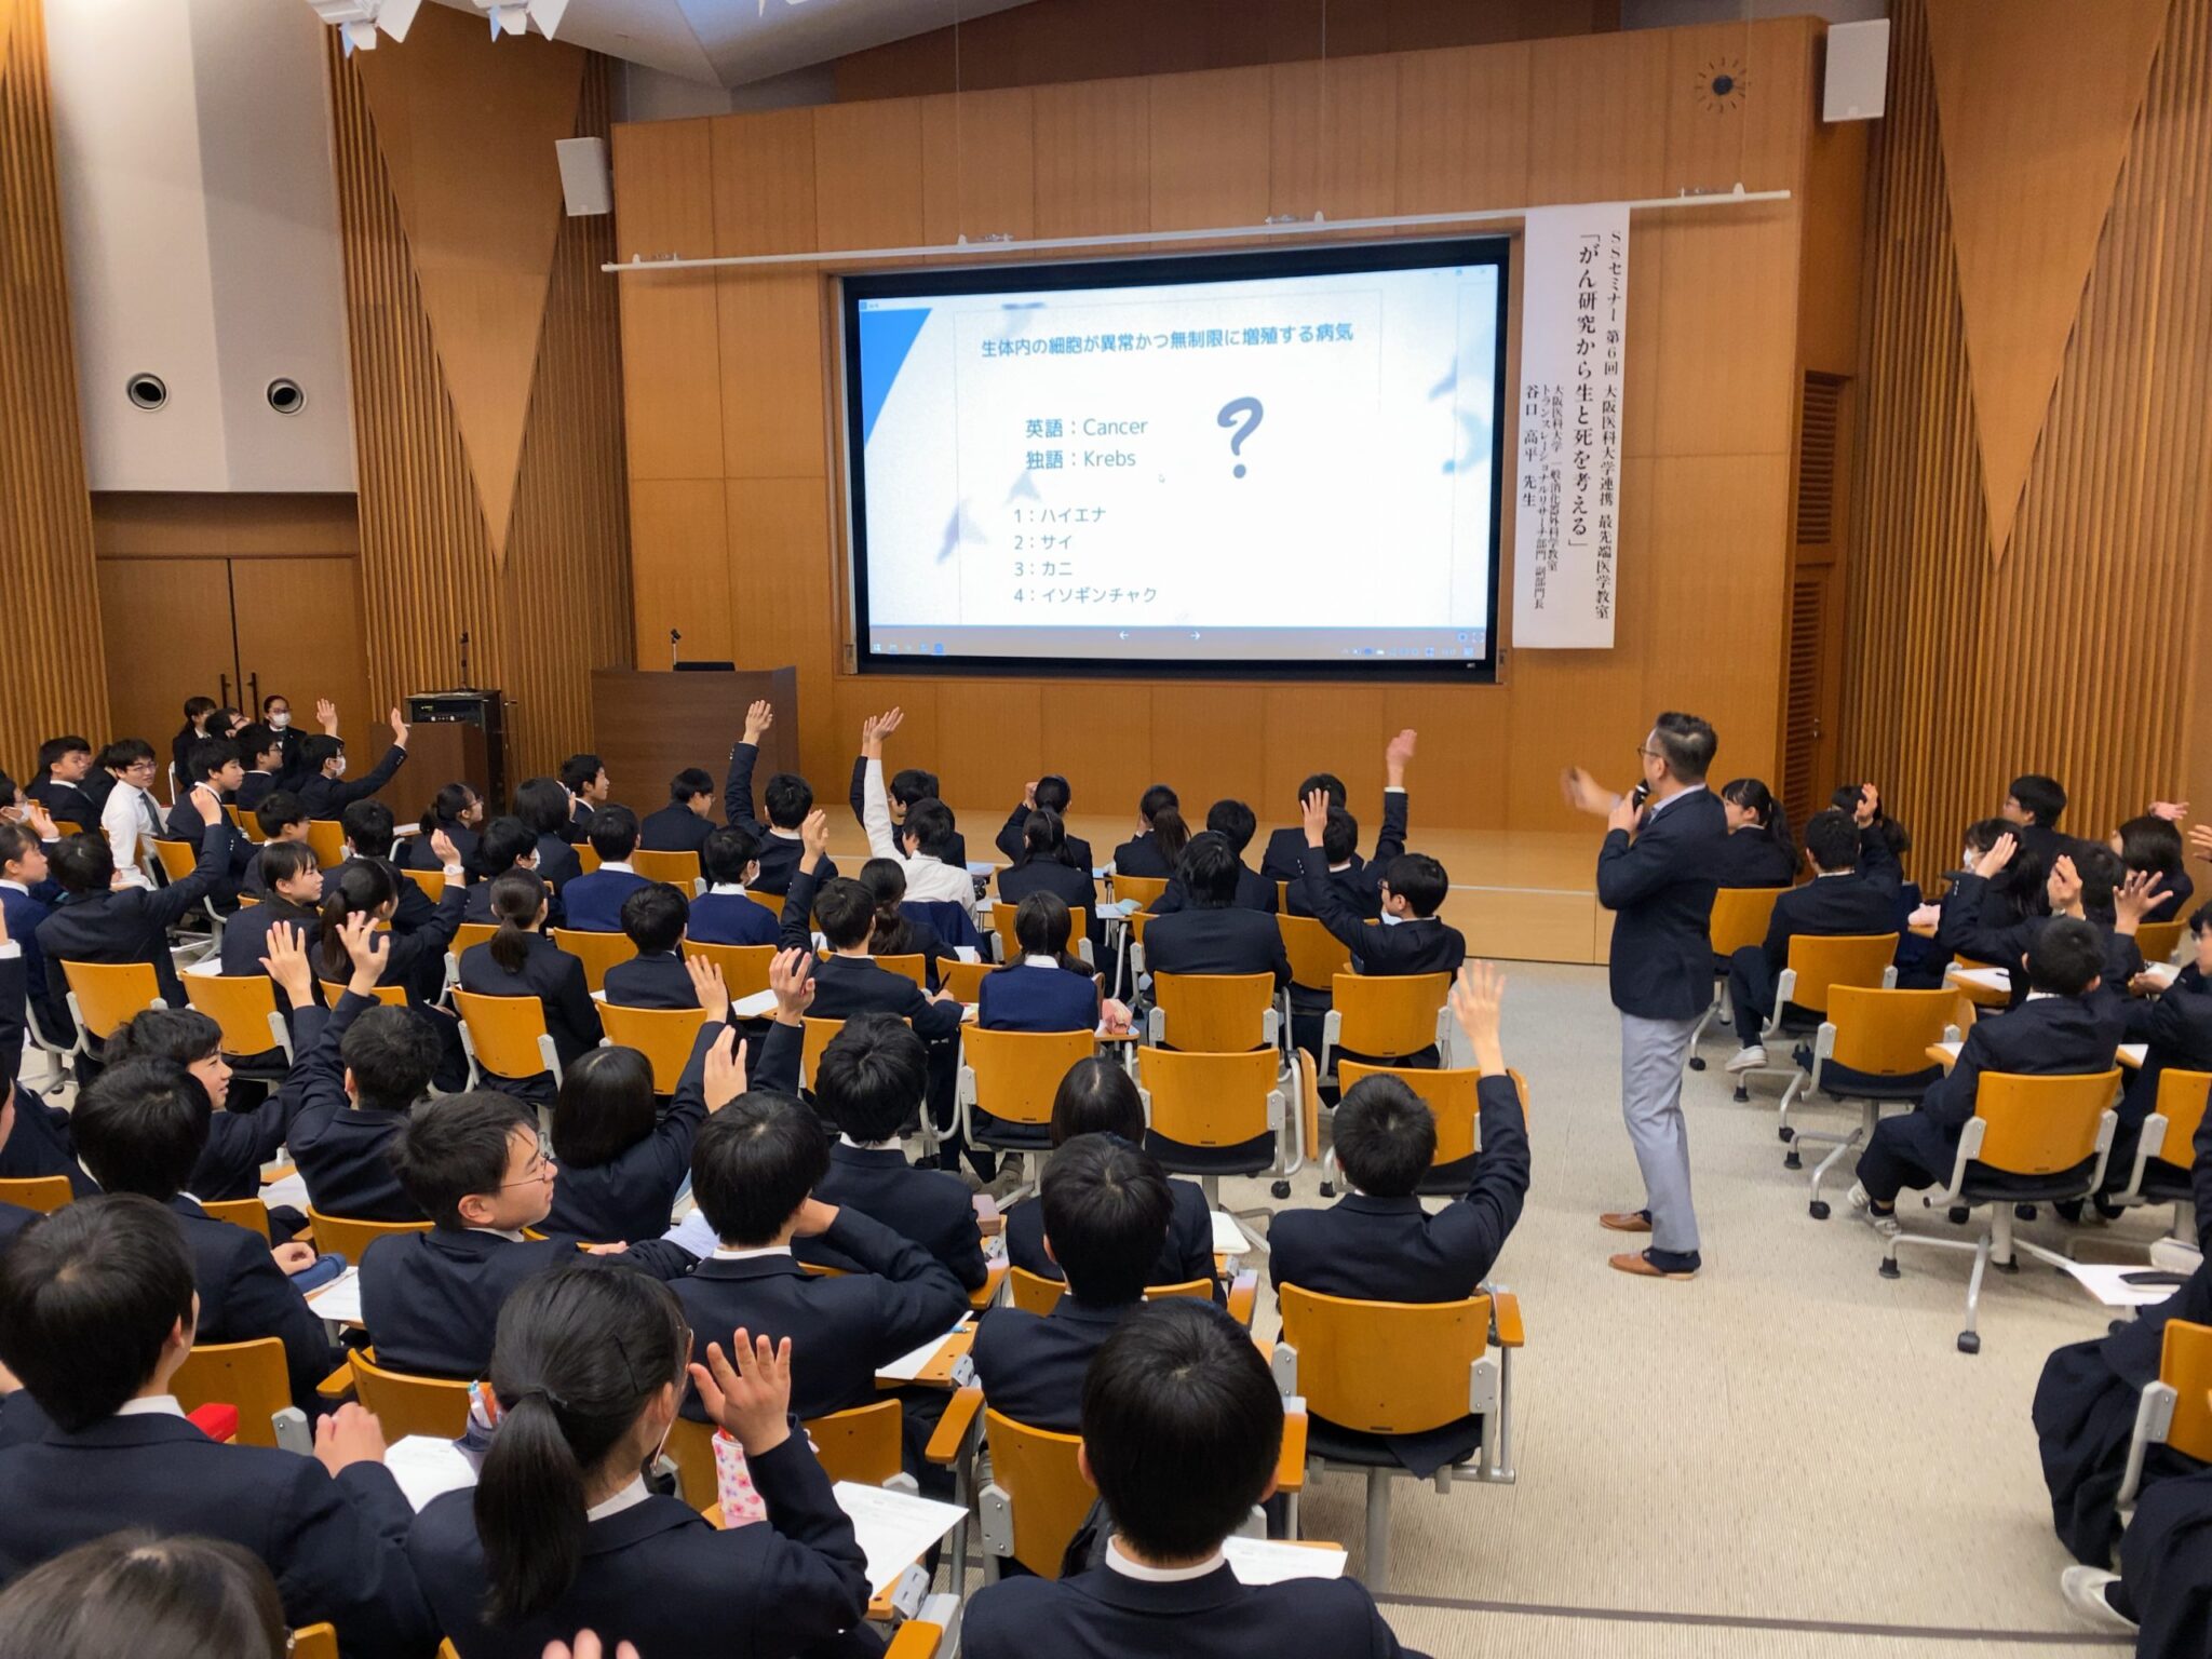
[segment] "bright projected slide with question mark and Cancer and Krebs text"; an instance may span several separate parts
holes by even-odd
[[[867,666],[1489,668],[1502,294],[1500,241],[847,279]]]

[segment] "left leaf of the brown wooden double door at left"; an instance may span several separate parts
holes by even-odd
[[[100,624],[111,730],[84,737],[144,737],[166,772],[184,699],[239,695],[230,560],[100,560]]]

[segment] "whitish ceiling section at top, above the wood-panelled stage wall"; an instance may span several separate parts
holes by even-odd
[[[471,0],[442,2],[476,11]],[[1018,4],[1026,0],[568,0],[560,38],[684,80],[748,86]]]

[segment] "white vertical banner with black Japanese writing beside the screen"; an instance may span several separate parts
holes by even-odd
[[[1515,646],[1613,646],[1626,363],[1628,208],[1531,208],[1513,478]]]

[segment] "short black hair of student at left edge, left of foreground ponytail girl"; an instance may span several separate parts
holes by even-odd
[[[77,1199],[0,1252],[0,1365],[64,1433],[146,1387],[179,1321],[192,1329],[192,1259],[153,1199]]]

